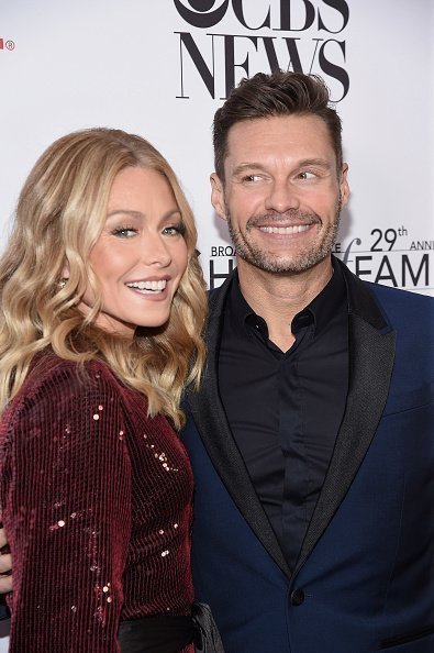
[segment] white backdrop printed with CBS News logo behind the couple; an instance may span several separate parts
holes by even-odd
[[[337,255],[361,278],[434,295],[433,37],[432,0],[3,0],[0,247],[42,151],[116,126],[174,166],[219,286],[233,259],[209,200],[213,113],[233,82],[278,65],[322,75],[343,119]]]

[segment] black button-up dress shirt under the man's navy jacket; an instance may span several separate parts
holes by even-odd
[[[348,309],[337,268],[291,323],[283,353],[234,279],[219,387],[235,442],[290,567],[331,461],[348,386]]]

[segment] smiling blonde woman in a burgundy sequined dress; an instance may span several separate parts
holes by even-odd
[[[119,130],[59,139],[23,187],[0,261],[11,652],[193,651],[196,239],[167,162]]]

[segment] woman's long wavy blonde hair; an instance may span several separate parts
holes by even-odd
[[[188,266],[167,323],[137,329],[131,343],[94,324],[101,292],[89,254],[105,223],[114,177],[135,166],[169,182],[186,228]],[[53,143],[23,186],[0,259],[0,410],[22,387],[35,355],[51,347],[81,368],[103,359],[146,397],[149,416],[163,413],[181,427],[182,389],[198,386],[204,361],[207,297],[196,245],[194,219],[177,177],[147,141],[121,130],[89,129]],[[65,265],[70,276],[62,287]],[[96,302],[85,318],[77,307],[88,284]]]

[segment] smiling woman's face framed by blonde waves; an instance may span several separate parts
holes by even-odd
[[[183,224],[167,179],[129,167],[114,178],[104,228],[90,252],[102,291],[97,324],[132,337],[136,326],[159,326],[170,314],[187,267]],[[80,310],[93,303],[90,288]]]

